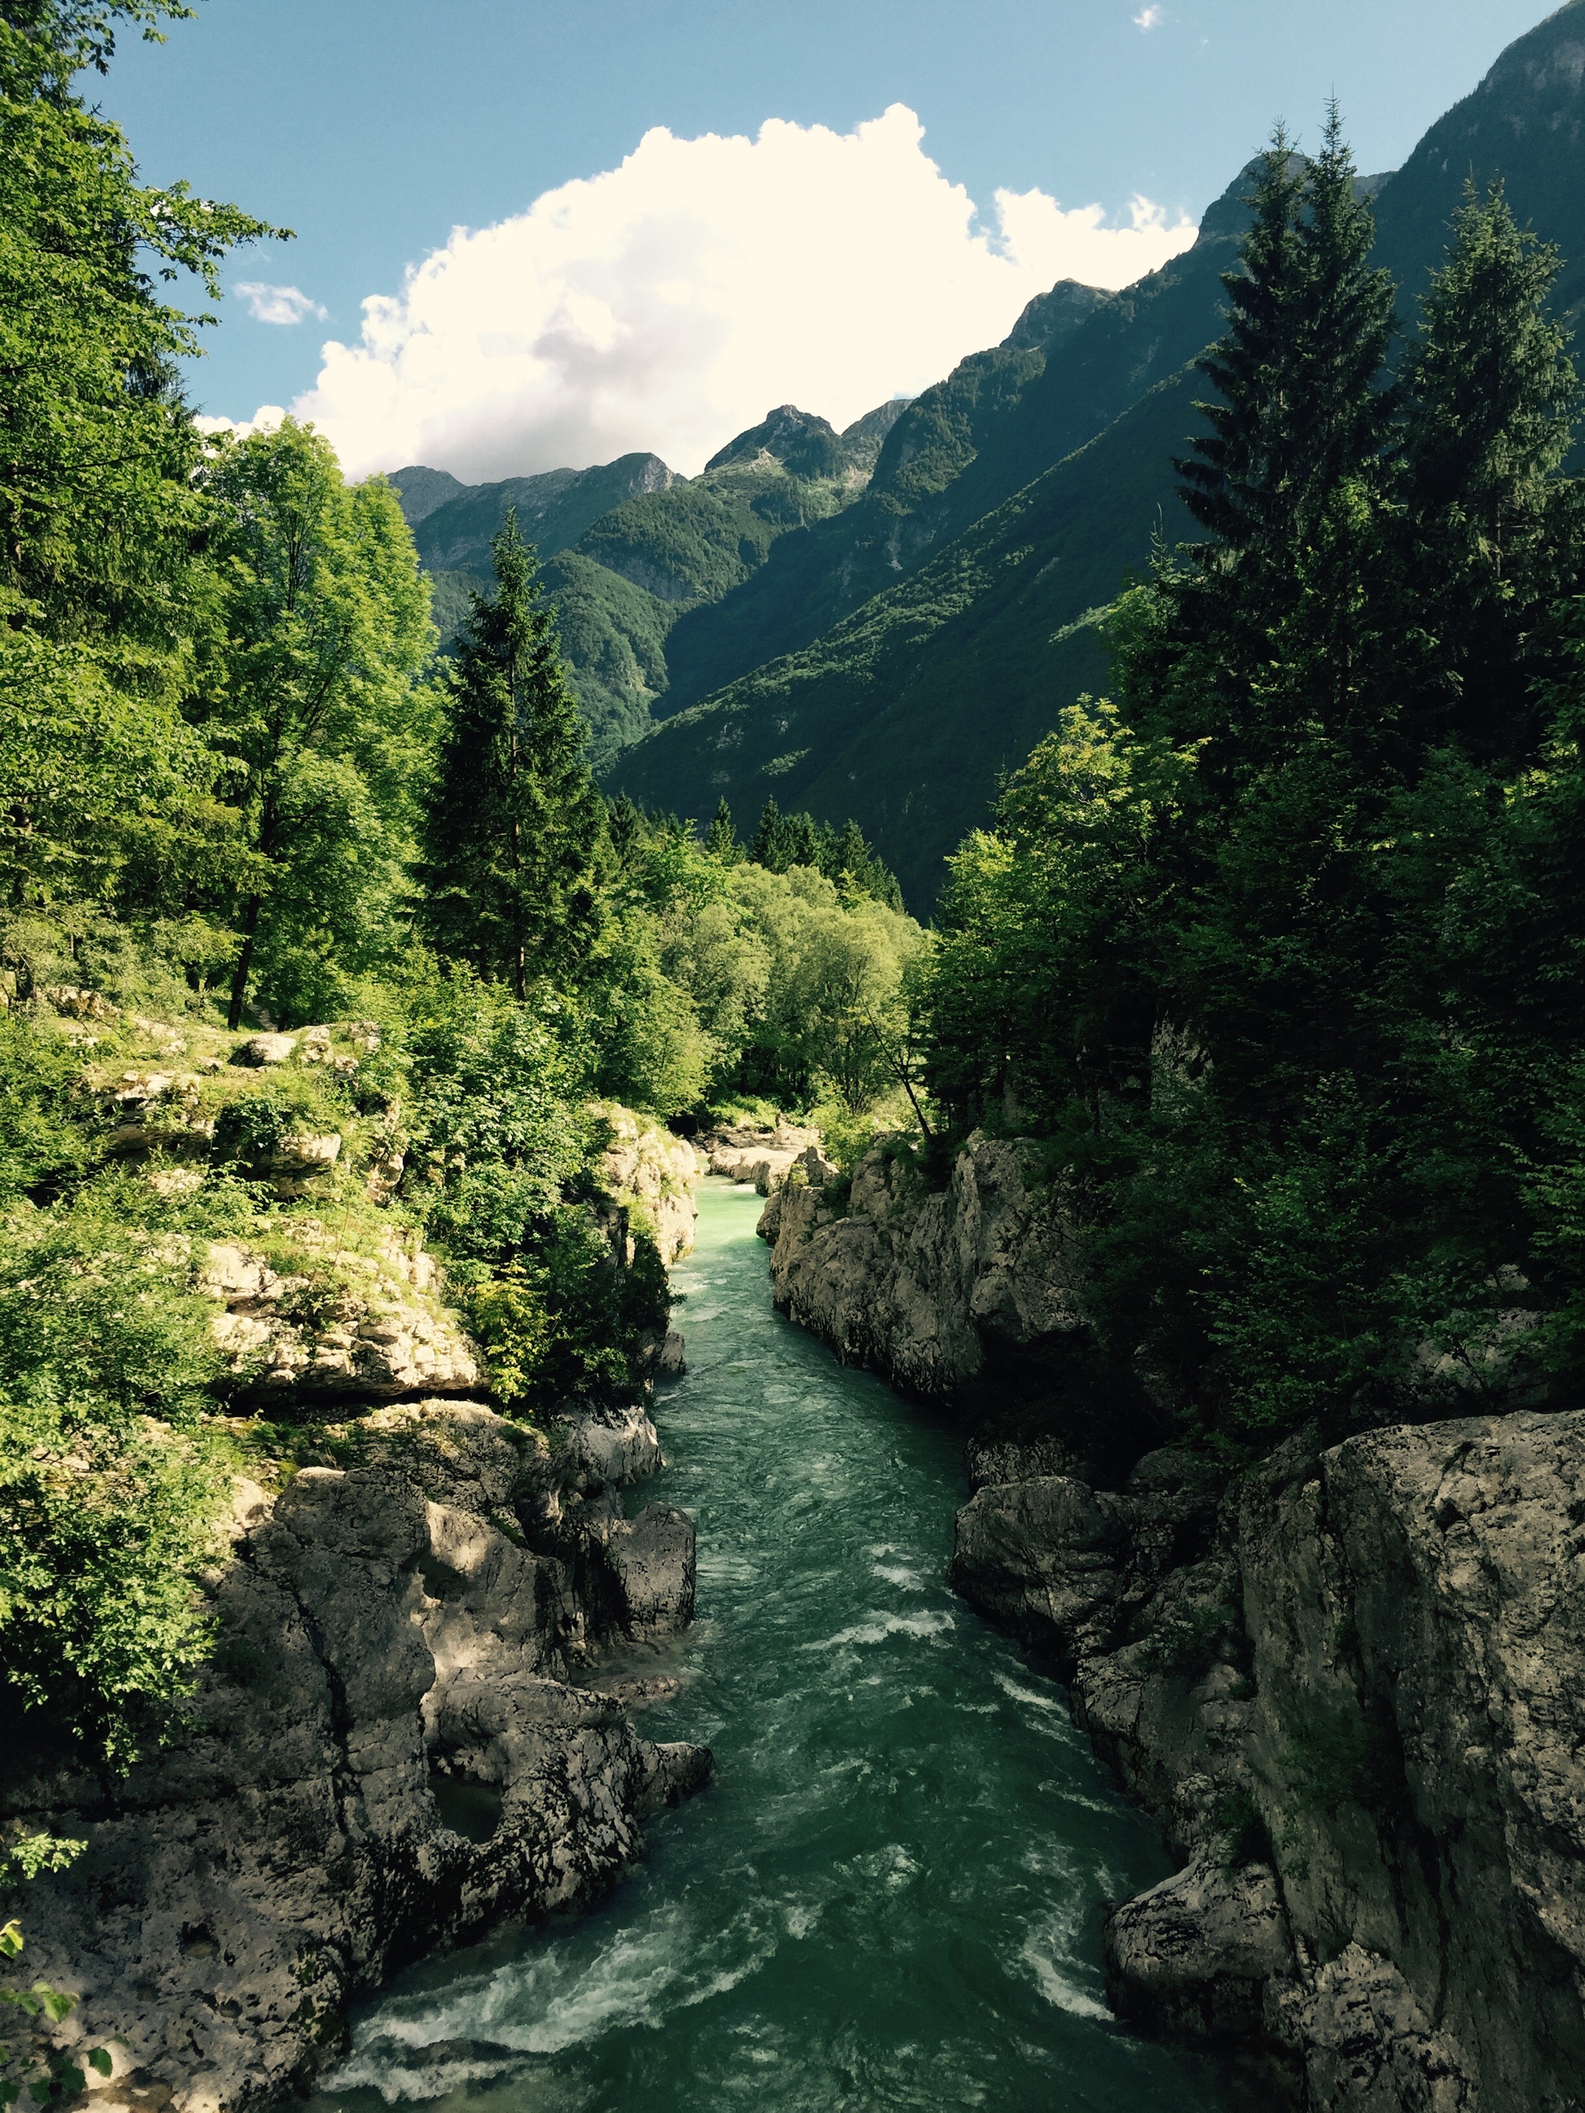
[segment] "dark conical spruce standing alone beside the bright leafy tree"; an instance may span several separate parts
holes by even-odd
[[[427,917],[444,953],[522,997],[533,978],[564,978],[588,959],[611,852],[516,511],[490,560],[495,592],[473,596],[450,674],[427,814]]]

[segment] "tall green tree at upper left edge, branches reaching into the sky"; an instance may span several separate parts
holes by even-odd
[[[148,695],[161,672],[180,685],[201,621],[205,507],[175,385],[194,319],[154,298],[139,251],[218,298],[230,247],[287,230],[137,184],[120,131],[66,87],[110,51],[116,13],[156,8],[0,15],[0,602],[13,623],[135,647]]]

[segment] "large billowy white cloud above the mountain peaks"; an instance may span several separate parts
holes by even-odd
[[[1004,338],[1057,279],[1129,285],[1194,239],[1145,199],[1107,226],[1040,190],[997,190],[987,230],[921,137],[902,104],[854,133],[657,127],[366,300],[361,340],[325,344],[292,410],[351,473],[480,480],[638,448],[693,473],[776,404],[847,425]]]

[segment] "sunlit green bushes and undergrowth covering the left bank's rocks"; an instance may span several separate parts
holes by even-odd
[[[383,993],[378,1048],[372,1021],[342,1023],[298,1042],[313,1063],[251,1069],[213,1008],[106,1006],[72,1018],[36,995],[0,1016],[0,1716],[118,1769],[180,1728],[213,1644],[199,1587],[232,1477],[357,1456],[355,1424],[323,1411],[239,1414],[249,1369],[211,1331],[211,1242],[264,1261],[300,1327],[344,1299],[450,1304],[526,1424],[636,1392],[668,1297],[642,1213],[630,1257],[607,1221],[617,1111],[577,1101],[554,1008],[467,980],[418,1006]],[[150,1073],[171,1086],[133,1107],[129,1143],[114,1095]],[[281,1194],[279,1154],[330,1135],[334,1166]],[[399,1183],[372,1190],[393,1154]],[[418,1291],[425,1251],[446,1274]]]

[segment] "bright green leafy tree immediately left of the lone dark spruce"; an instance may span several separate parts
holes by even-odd
[[[256,968],[273,1004],[313,1016],[397,947],[435,632],[395,492],[349,488],[313,427],[222,444],[207,490],[226,649],[201,712],[258,860],[237,906],[237,1027]]]

